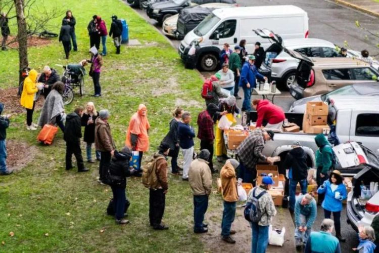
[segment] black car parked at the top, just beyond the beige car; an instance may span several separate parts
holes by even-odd
[[[132,1],[132,0],[128,0]],[[138,1],[138,0],[134,0]],[[140,0],[143,1],[143,0]],[[146,13],[149,18],[155,19],[158,23],[162,24],[163,21],[171,17],[172,15],[178,14],[180,10],[185,7],[197,6],[209,3],[225,3],[225,4],[235,4],[235,0],[152,0],[154,3],[147,5]]]

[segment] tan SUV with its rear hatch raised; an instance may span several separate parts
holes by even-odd
[[[353,58],[312,58],[313,66],[300,66],[297,71],[309,74],[309,81],[292,83],[290,93],[295,99],[334,91],[338,88],[360,82],[376,82],[379,72],[358,59]]]

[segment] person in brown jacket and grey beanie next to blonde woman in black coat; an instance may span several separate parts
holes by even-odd
[[[108,110],[101,110],[95,121],[95,147],[100,151],[99,183],[105,179],[106,170],[116,149],[108,123],[109,116]]]

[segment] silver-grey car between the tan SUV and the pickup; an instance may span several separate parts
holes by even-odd
[[[340,89],[316,95],[308,98],[302,98],[292,103],[289,112],[304,113],[308,102],[327,102],[330,96],[379,96],[379,83],[364,82],[348,85]]]

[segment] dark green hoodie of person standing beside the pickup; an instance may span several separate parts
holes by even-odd
[[[314,140],[320,152],[316,154],[316,167],[322,167],[321,173],[326,174],[333,165],[333,149],[323,134],[316,135]]]

